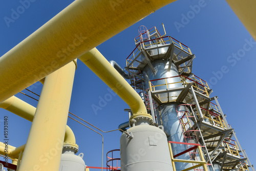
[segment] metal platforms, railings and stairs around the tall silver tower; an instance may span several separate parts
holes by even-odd
[[[184,139],[187,140],[184,153],[189,153],[190,162],[197,163],[194,168],[189,169],[207,170],[206,165],[214,169],[212,162],[218,162],[221,163],[221,170],[249,170],[251,167],[254,171],[236,133],[227,123],[218,97],[210,97],[212,90],[207,82],[191,72],[195,58],[191,50],[171,36],[161,36],[156,27],[147,30],[143,26],[139,33],[140,35],[135,37],[136,48],[126,58],[125,70],[130,74],[131,86],[143,94],[146,108],[152,114],[156,126],[162,125],[159,106],[170,102],[183,103],[184,110],[176,110]],[[167,71],[170,71],[171,63],[174,63],[179,75],[145,82],[143,68],[149,66],[155,73],[152,61],[156,59],[169,61]],[[179,80],[167,81],[173,78]],[[165,83],[158,84],[159,80]],[[147,83],[149,88],[145,90],[144,85]],[[180,84],[182,86],[177,86]],[[180,92],[179,95],[172,96],[172,93],[177,91]],[[169,147],[175,170],[175,163],[180,161],[172,155],[170,144]],[[195,149],[198,151],[195,152]],[[198,155],[200,160],[195,161]]]

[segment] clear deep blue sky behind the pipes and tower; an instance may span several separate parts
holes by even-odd
[[[34,0],[19,16],[14,17],[13,22],[6,22],[5,18],[11,18],[13,11],[17,11],[22,2],[23,0],[0,2],[0,56],[73,1]],[[210,88],[214,90],[211,97],[219,97],[228,123],[236,131],[251,163],[255,164],[256,81],[253,66],[256,62],[256,42],[224,0],[178,0],[145,17],[97,48],[106,59],[115,60],[123,68],[126,57],[135,48],[134,37],[138,35],[138,27],[144,25],[149,29],[156,26],[164,34],[161,23],[164,24],[167,35],[181,41],[196,55],[193,73],[208,81]],[[41,87],[37,83],[29,89],[39,94]],[[23,92],[30,94],[26,90]],[[78,60],[70,112],[104,131],[117,129],[120,123],[128,120],[128,114],[123,110],[129,106],[122,99],[112,95],[112,99],[102,110],[95,113],[92,109],[92,105],[99,105],[100,98],[109,93],[108,87]],[[16,96],[34,106],[37,104],[35,100],[20,93]],[[9,116],[10,144],[25,144],[31,122],[0,109],[0,130],[3,129],[5,115]],[[86,164],[101,166],[101,137],[71,119],[68,119],[68,125],[75,133],[78,153],[84,153]],[[106,152],[119,148],[120,135],[119,132],[103,134],[104,160]],[[0,139],[4,139],[3,131],[0,131]]]

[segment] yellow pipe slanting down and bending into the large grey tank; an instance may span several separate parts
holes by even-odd
[[[133,112],[131,119],[138,117],[152,119],[151,115],[147,114],[139,94],[96,48],[80,56],[79,59],[130,106]]]

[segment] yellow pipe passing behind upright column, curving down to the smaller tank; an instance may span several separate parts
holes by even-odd
[[[0,103],[0,108],[3,108],[9,112],[12,112],[24,119],[27,119],[28,121],[33,121],[36,108],[27,102],[12,96],[8,98],[7,100]],[[76,139],[73,131],[71,128],[67,125],[66,126],[66,133],[65,133],[65,144],[70,144],[72,146],[75,146],[78,148],[78,145],[76,144]]]

